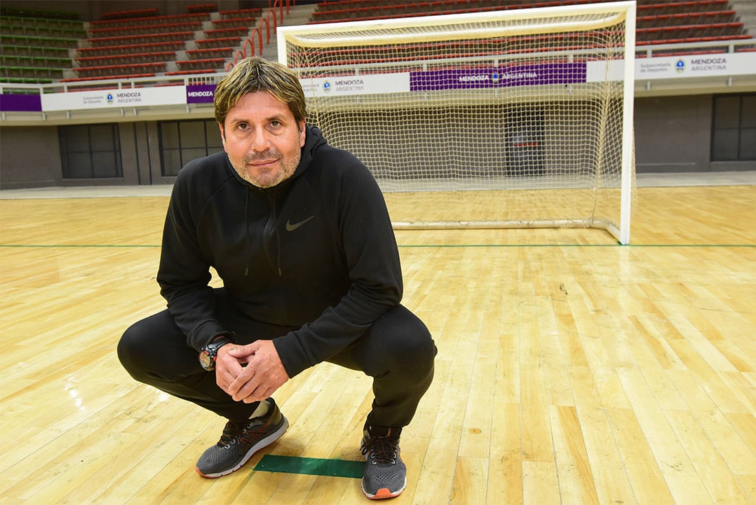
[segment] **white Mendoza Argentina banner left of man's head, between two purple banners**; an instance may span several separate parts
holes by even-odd
[[[42,95],[42,111],[151,107],[187,103],[186,86],[98,89]]]

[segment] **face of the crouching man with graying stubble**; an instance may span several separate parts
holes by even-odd
[[[305,121],[268,92],[247,93],[221,127],[223,148],[242,179],[271,188],[291,177],[305,145]]]

